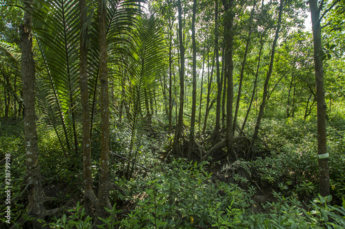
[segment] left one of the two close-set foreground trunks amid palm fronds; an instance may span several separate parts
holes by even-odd
[[[88,29],[84,28],[86,18],[86,0],[79,0],[80,8],[80,95],[81,114],[83,117],[83,186],[84,186],[84,208],[88,215],[91,215],[91,204],[96,204],[96,196],[92,190],[92,168],[91,168],[91,140],[90,140],[90,109],[88,103],[88,47],[86,34]]]

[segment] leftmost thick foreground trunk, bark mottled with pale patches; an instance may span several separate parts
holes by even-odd
[[[32,0],[24,1],[24,8],[31,8]],[[26,183],[28,186],[27,214],[30,217],[43,217],[43,190],[39,168],[39,149],[37,144],[36,111],[34,108],[34,58],[32,53],[32,16],[24,12],[24,24],[20,27],[21,35],[21,80],[23,83],[24,134],[26,146]],[[33,227],[39,224],[34,222]]]

